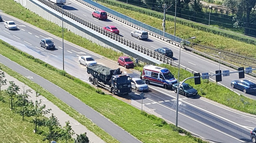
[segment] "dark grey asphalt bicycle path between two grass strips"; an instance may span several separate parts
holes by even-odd
[[[69,94],[62,88],[58,87],[57,85],[53,84],[52,82],[44,79],[41,76],[38,76],[37,74],[33,73],[30,70],[27,70],[26,68],[20,66],[14,61],[11,61],[10,59],[6,58],[5,56],[0,55],[0,62],[4,64],[5,66],[9,67],[10,69],[16,71],[17,73],[20,73],[23,76],[32,76],[33,78],[30,79],[31,81],[35,82],[36,84],[40,85],[47,91],[49,91],[51,94],[71,106],[73,109],[77,110],[79,113],[86,116],[88,119],[90,119],[93,123],[98,125],[100,128],[105,130],[108,134],[113,136],[115,139],[117,139],[121,143],[141,143],[138,139],[133,137],[130,133],[123,130],[121,127],[117,126],[95,110],[93,110],[91,107],[87,106],[83,102],[81,102],[79,99],[75,98],[73,95]]]

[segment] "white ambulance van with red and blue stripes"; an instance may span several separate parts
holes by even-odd
[[[167,68],[153,65],[143,67],[141,78],[146,84],[155,84],[165,89],[172,88],[172,84],[177,83],[177,79],[174,78]]]

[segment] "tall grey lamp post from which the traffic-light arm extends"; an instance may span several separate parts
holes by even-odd
[[[182,40],[180,42],[180,53],[179,53],[179,64],[178,64],[178,90],[177,90],[177,100],[176,100],[176,122],[175,122],[175,126],[178,127],[178,107],[179,107],[179,90],[180,90],[180,85],[179,85],[179,79],[180,79],[180,63],[181,63],[181,44],[183,41],[187,41],[187,40],[190,40],[190,39],[195,39],[196,37],[191,37],[189,39],[185,39],[185,40]]]

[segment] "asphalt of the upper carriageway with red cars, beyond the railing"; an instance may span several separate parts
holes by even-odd
[[[137,44],[143,45],[144,47],[151,49],[151,50],[155,50],[159,47],[169,47],[173,51],[174,61],[178,63],[179,48],[177,46],[169,44],[168,42],[162,41],[153,36],[149,36],[149,39],[147,39],[147,40],[138,40],[137,38],[132,37],[130,35],[131,31],[136,30],[135,28],[130,27],[126,24],[123,24],[115,19],[110,18],[110,17],[108,17],[108,19],[106,21],[98,20],[98,19],[92,17],[92,12],[94,10],[91,9],[90,7],[87,7],[75,0],[67,0],[67,3],[68,2],[71,2],[71,4],[63,6],[63,9],[65,9],[81,18],[84,18],[85,20],[90,21],[91,23],[96,24],[100,27],[114,25],[120,31],[119,35],[130,40],[130,41],[133,41]],[[197,37],[197,35],[194,35],[194,36]],[[190,37],[187,37],[187,38],[190,38]],[[198,38],[201,38],[201,37],[198,37]],[[216,53],[216,55],[218,55],[218,53]],[[181,51],[181,61],[180,62],[182,65],[184,65],[190,69],[193,69],[197,72],[200,72],[200,73],[215,74],[215,70],[219,70],[218,63],[213,62],[209,59],[203,58],[202,56],[198,56],[198,55],[191,53],[189,51],[186,51],[184,49],[182,49],[182,51]],[[230,70],[230,72],[236,71],[232,68],[229,68],[229,67],[226,67],[223,65],[221,65],[220,70]],[[248,76],[248,75],[246,75],[245,78],[249,79],[251,81],[254,81],[254,82],[256,81],[256,78]],[[213,79],[215,79],[215,77],[213,77]],[[230,74],[230,76],[223,77],[222,82],[220,82],[220,83],[231,88],[230,82],[232,80],[239,80],[238,73],[233,73],[233,74]],[[243,94],[245,96],[248,96],[248,97],[256,100],[255,93],[246,94],[240,90],[237,90],[237,89],[234,89],[234,90],[240,94]]]

